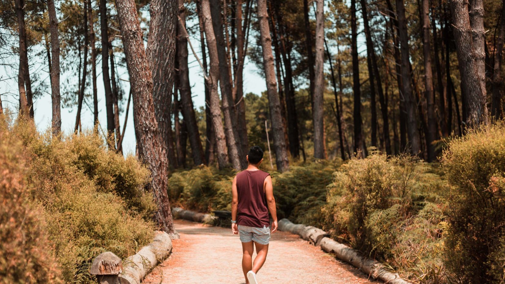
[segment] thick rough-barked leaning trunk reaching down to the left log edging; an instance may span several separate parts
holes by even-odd
[[[149,185],[158,204],[156,220],[162,230],[176,237],[167,194],[167,155],[155,116],[153,77],[144,50],[137,8],[133,0],[118,0],[116,7],[126,62],[131,66],[128,71],[133,90],[133,116],[139,158],[151,171]]]

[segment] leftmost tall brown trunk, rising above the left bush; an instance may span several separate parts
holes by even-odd
[[[26,32],[25,32],[25,15],[24,15],[24,1],[16,0],[14,2],[16,8],[16,16],[18,19],[19,28],[19,72],[18,72],[18,88],[19,88],[19,109],[21,113],[28,116],[30,113],[30,106],[26,99],[26,89],[25,89],[25,75],[26,66],[25,61],[28,61],[26,57]]]

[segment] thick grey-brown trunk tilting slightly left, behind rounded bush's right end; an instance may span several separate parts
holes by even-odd
[[[407,19],[405,17],[405,5],[402,0],[396,0],[396,13],[398,15],[398,37],[401,52],[401,78],[403,83],[403,99],[407,111],[407,133],[410,139],[410,149],[412,155],[421,152],[421,139],[417,128],[416,100],[412,93],[410,56],[409,56],[409,35],[407,33]]]

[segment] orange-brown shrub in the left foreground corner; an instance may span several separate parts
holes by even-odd
[[[5,123],[0,115],[0,124]],[[60,283],[42,209],[29,202],[24,149],[0,126],[0,283]]]

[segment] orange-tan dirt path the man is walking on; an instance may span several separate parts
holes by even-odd
[[[181,238],[170,257],[144,279],[147,284],[243,284],[242,246],[231,228],[175,220]],[[256,253],[255,253],[256,255]],[[260,284],[379,283],[357,268],[336,260],[297,235],[272,234]]]

